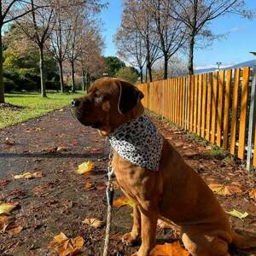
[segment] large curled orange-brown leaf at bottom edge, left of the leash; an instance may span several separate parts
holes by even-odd
[[[55,253],[60,256],[66,256],[71,253],[77,253],[84,246],[84,238],[77,236],[69,239],[64,233],[60,233],[55,236],[52,241],[49,242],[49,249],[54,249]]]

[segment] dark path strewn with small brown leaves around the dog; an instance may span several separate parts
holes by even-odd
[[[233,217],[230,221],[237,230],[256,234],[256,205],[248,196],[249,189],[255,187],[255,177],[248,177],[244,168],[232,161],[210,157],[201,143],[153,119],[207,183],[240,186],[242,193],[219,196],[219,200],[226,211],[247,211],[249,216],[243,221]],[[6,137],[14,140],[15,145],[5,145]],[[56,147],[65,147],[67,151],[55,152]],[[84,160],[92,160],[96,166],[88,177],[74,172]],[[106,218],[107,164],[108,144],[104,138],[79,125],[68,109],[0,130],[0,201],[19,202],[13,215],[23,227],[15,236],[0,234],[0,255],[54,255],[47,247],[60,232],[68,237],[84,237],[81,255],[101,255],[104,228],[94,229],[81,223],[84,218]],[[12,175],[28,171],[41,171],[43,177],[13,179]],[[96,189],[85,189],[86,182],[94,183]],[[119,195],[117,191],[116,196]],[[115,209],[112,255],[131,255],[136,251],[137,247],[124,247],[118,239],[130,229],[131,208]],[[158,230],[158,242],[172,240],[172,230]],[[233,250],[231,255],[256,255],[256,250]]]

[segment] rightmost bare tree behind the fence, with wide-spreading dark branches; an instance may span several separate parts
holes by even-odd
[[[194,49],[196,39],[207,31],[207,25],[217,19],[219,16],[228,13],[237,13],[246,15],[243,11],[245,1],[243,0],[163,0],[168,10],[166,10],[172,19],[183,22],[187,27],[189,39],[189,74],[194,73]]]

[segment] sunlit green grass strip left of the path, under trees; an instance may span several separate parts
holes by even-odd
[[[47,98],[41,98],[39,93],[7,93],[5,95],[5,102],[18,108],[0,105],[0,128],[15,125],[55,109],[63,108],[69,105],[73,98],[82,95],[84,95],[82,91],[75,94],[61,94],[48,91]]]

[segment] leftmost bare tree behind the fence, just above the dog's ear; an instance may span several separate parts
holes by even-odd
[[[139,69],[141,83],[143,83],[146,51],[142,35],[137,31],[126,31],[125,27],[121,25],[115,35],[114,42],[118,49],[119,58],[127,61],[132,67]]]

